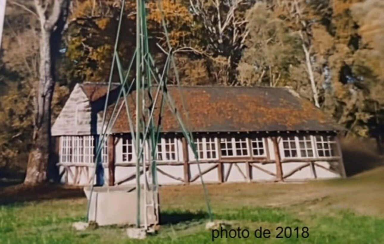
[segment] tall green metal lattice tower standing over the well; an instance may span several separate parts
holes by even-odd
[[[124,13],[124,5],[125,0],[122,0],[121,5],[121,13],[119,18],[118,31],[116,35],[116,43],[114,46],[114,54],[113,61],[111,64],[111,71],[108,82],[108,92],[106,95],[106,102],[104,106],[104,114],[103,114],[103,131],[99,136],[99,140],[97,143],[96,149],[96,167],[94,171],[94,175],[97,175],[97,168],[101,165],[101,151],[103,145],[106,141],[106,137],[111,134],[111,129],[117,119],[117,115],[122,109],[124,105],[127,112],[127,120],[129,122],[130,132],[132,136],[132,142],[134,143],[134,148],[137,155],[136,162],[136,195],[137,195],[137,216],[136,216],[136,226],[137,228],[144,225],[144,228],[148,228],[147,223],[141,223],[141,189],[144,189],[144,216],[146,219],[147,216],[147,208],[156,208],[153,206],[155,204],[154,199],[158,194],[158,185],[157,185],[157,172],[156,172],[156,150],[157,150],[157,142],[159,141],[160,132],[161,132],[161,124],[159,121],[154,120],[154,109],[155,104],[157,104],[158,100],[161,97],[161,106],[159,116],[161,117],[163,114],[164,106],[169,107],[169,109],[174,114],[175,118],[179,122],[180,127],[182,128],[183,135],[187,140],[188,144],[192,148],[192,151],[195,154],[195,158],[198,158],[196,145],[194,143],[192,133],[188,132],[186,125],[182,121],[179,112],[175,109],[175,104],[173,102],[172,97],[167,92],[166,84],[167,77],[169,73],[170,65],[172,65],[173,70],[175,71],[175,77],[177,79],[177,84],[180,85],[179,75],[177,73],[177,69],[175,66],[175,62],[172,56],[172,47],[169,43],[168,31],[166,28],[164,14],[162,12],[162,6],[160,0],[157,1],[157,8],[161,11],[162,15],[162,25],[164,28],[164,33],[166,34],[167,44],[168,44],[168,52],[164,51],[167,54],[166,63],[164,64],[164,68],[162,71],[159,71],[155,66],[154,58],[152,58],[151,53],[149,52],[149,44],[148,44],[148,29],[147,29],[147,20],[146,20],[146,8],[145,8],[145,0],[136,0],[136,51],[131,59],[129,64],[129,68],[127,71],[124,71],[122,68],[122,64],[120,62],[120,58],[118,55],[118,40],[120,36],[121,30],[121,20],[123,18]],[[127,83],[128,76],[131,72],[133,62],[136,62],[136,70],[135,70],[135,78],[129,83]],[[109,100],[109,93],[111,91],[111,82],[114,69],[117,68],[119,73],[119,79],[121,83],[121,89],[118,95],[118,100],[122,96],[124,98],[124,102],[121,104],[121,107],[117,109],[119,102],[116,102],[114,105],[114,109],[112,115],[109,117],[109,120],[106,121],[107,114],[107,105]],[[135,88],[133,88],[135,87]],[[135,89],[135,101],[136,101],[136,111],[134,112],[135,121],[132,121],[132,111],[129,111],[127,97],[133,96],[131,91]],[[156,90],[156,92],[154,92]],[[153,93],[153,94],[152,94]],[[146,104],[151,104],[149,107],[146,107]],[[183,101],[183,107],[184,101]],[[187,115],[188,120],[188,115]],[[149,149],[149,153],[146,157],[145,148]],[[202,185],[204,188],[204,195],[207,201],[207,208],[210,219],[212,221],[212,213],[210,209],[208,193],[204,185],[204,181],[201,175],[201,169],[199,163],[197,163],[199,168],[200,177],[202,180]],[[149,170],[149,174],[147,176],[147,168]],[[144,182],[140,182],[141,171],[143,171]],[[151,192],[150,196],[147,196],[147,190]],[[93,191],[93,186],[91,188],[91,192]],[[92,196],[92,194],[90,195]],[[89,199],[88,203],[88,213],[89,213],[89,204],[91,199]],[[158,214],[158,213],[157,213]],[[88,214],[87,214],[88,218]],[[145,221],[146,222],[146,221]]]

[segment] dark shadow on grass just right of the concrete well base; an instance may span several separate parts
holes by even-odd
[[[208,218],[208,214],[203,211],[191,212],[188,210],[165,210],[161,211],[160,224],[179,224],[206,218]]]

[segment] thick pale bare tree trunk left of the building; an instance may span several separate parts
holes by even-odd
[[[40,79],[35,86],[35,109],[33,142],[28,158],[24,183],[41,184],[47,179],[49,155],[51,152],[51,101],[55,81],[51,73],[51,31],[41,28],[40,37]]]

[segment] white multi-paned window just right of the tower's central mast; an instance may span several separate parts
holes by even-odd
[[[167,150],[168,146],[168,150]],[[174,150],[170,150],[174,147]],[[158,162],[179,162],[180,161],[180,151],[179,150],[179,140],[174,137],[166,137],[166,138],[160,138],[159,142],[157,143],[156,148],[156,161]],[[159,150],[160,149],[160,150]],[[174,154],[174,158],[167,156]]]

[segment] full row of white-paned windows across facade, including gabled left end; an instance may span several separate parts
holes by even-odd
[[[135,160],[136,152],[132,140],[121,138],[122,162]],[[182,151],[180,140],[177,138],[161,138],[156,148],[156,160],[181,161],[179,152]],[[265,138],[196,138],[195,144],[199,160],[218,159],[218,145],[222,158],[230,157],[265,157]],[[336,142],[330,136],[292,136],[282,137],[279,143],[280,152],[284,158],[313,158],[336,156]],[[102,150],[103,162],[107,162],[107,144]],[[91,136],[61,137],[61,162],[90,163],[93,162],[94,140]],[[194,160],[194,153],[189,148],[189,157]]]

